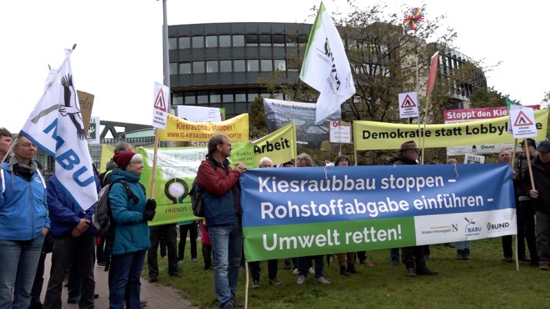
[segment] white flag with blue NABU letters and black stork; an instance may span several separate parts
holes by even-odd
[[[21,135],[55,157],[56,177],[83,210],[98,200],[78,95],[71,69],[71,51],[58,69],[51,69],[46,86]]]

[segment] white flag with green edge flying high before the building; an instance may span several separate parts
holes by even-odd
[[[315,123],[334,113],[355,94],[342,38],[322,2],[309,33],[300,79],[320,92]]]

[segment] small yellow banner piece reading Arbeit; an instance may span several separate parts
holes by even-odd
[[[254,141],[256,168],[260,159],[268,157],[273,164],[281,164],[296,158],[296,124],[291,122],[261,139]]]

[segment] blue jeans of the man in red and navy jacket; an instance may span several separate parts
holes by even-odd
[[[240,223],[208,227],[214,253],[214,289],[223,307],[236,294],[239,266],[243,254],[243,228]]]

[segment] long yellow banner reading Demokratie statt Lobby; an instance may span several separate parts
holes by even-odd
[[[547,134],[548,109],[535,112],[538,136]],[[474,144],[512,143],[514,136],[507,133],[508,116],[455,124],[428,124],[426,129],[417,124],[387,124],[385,122],[353,122],[355,150],[398,149],[406,141],[426,137],[425,148],[466,146]],[[420,145],[418,145],[420,146]]]

